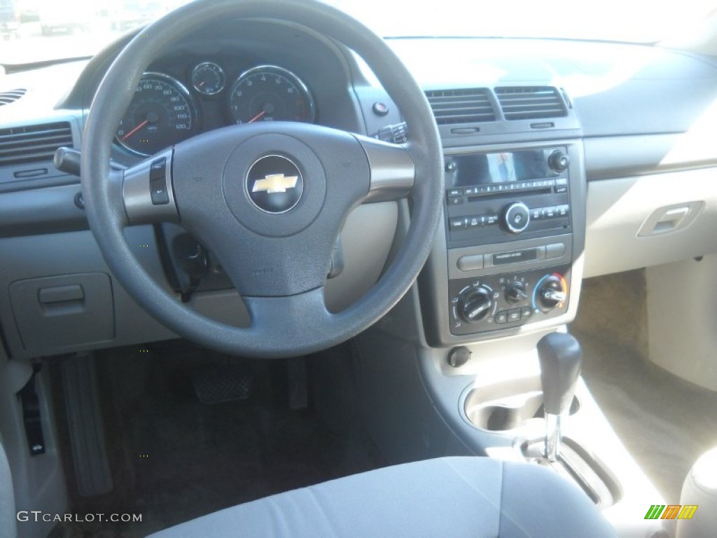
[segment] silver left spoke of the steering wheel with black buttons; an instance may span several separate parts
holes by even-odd
[[[122,201],[128,224],[151,222],[178,222],[174,187],[172,184],[172,157],[169,148],[121,172]]]

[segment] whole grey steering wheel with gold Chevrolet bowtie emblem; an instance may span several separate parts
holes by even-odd
[[[146,67],[178,37],[229,17],[301,24],[356,51],[404,114],[409,142],[260,122],[203,133],[128,170],[110,170],[113,136]],[[417,278],[441,218],[442,148],[424,93],[383,39],[313,0],[196,0],[151,24],[100,83],[81,169],[90,228],[130,296],[181,336],[247,357],[326,349],[379,320]],[[329,312],[323,285],[346,216],[358,204],[403,197],[411,202],[411,224],[391,264],[358,301]],[[146,273],[123,230],[151,222],[179,223],[217,256],[250,326],[196,313]]]

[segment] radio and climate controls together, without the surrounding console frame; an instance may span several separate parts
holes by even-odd
[[[452,334],[510,329],[566,313],[569,169],[569,148],[561,146],[446,156]]]

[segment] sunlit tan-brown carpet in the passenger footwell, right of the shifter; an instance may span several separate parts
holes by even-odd
[[[642,271],[586,280],[570,330],[614,430],[665,500],[678,504],[690,467],[717,446],[717,393],[647,360],[644,284]]]

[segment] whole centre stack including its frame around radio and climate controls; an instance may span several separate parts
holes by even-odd
[[[584,246],[582,160],[578,141],[445,151],[444,230],[422,278],[430,344],[571,321]]]

